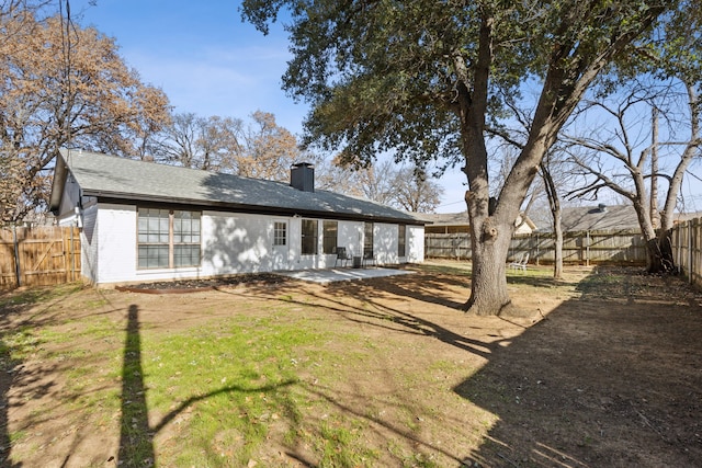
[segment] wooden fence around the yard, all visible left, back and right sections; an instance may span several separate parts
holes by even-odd
[[[676,266],[690,283],[702,287],[702,218],[677,224],[670,233]],[[550,232],[517,235],[508,261],[530,254],[530,263],[554,262],[554,236]],[[427,233],[424,255],[471,260],[471,235]],[[564,233],[566,264],[646,264],[646,243],[636,230]],[[78,281],[80,231],[77,227],[15,227],[0,229],[0,289],[44,286]]]

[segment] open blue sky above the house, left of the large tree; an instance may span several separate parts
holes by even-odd
[[[247,119],[275,114],[297,134],[307,112],[281,90],[290,57],[281,27],[263,36],[242,23],[237,1],[88,0],[71,16],[114,37],[141,80],[161,88],[177,112]]]

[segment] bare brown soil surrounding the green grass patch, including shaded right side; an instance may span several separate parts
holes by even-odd
[[[1,294],[5,342],[22,330],[45,336],[21,359],[3,350],[3,466],[124,466],[120,415],[87,403],[91,392],[120,392],[121,383],[98,372],[77,392],[66,375],[90,358],[84,350],[122,357],[131,308],[144,330],[172,333],[281,305],[335,333],[362,336],[358,350],[324,344],[339,355],[338,378],[319,381],[310,367],[299,385],[363,422],[377,466],[702,466],[699,292],[638,269],[571,267],[563,282],[528,272],[509,279],[518,313],[475,317],[461,311],[469,294],[463,269],[441,262],[329,286],[259,281],[169,295],[78,288],[56,298],[37,289],[27,301],[27,292]],[[114,333],[77,327],[95,316]],[[73,329],[70,342],[52,342],[52,333]],[[346,365],[351,351],[364,354]],[[158,416],[149,414],[151,426]],[[329,415],[304,416],[314,432]],[[152,434],[156,465],[167,466],[160,454],[173,449],[177,423]],[[318,466],[314,446],[275,431],[270,437],[250,466]]]

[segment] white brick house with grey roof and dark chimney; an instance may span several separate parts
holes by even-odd
[[[82,228],[82,274],[93,284],[327,269],[336,250],[377,264],[423,261],[423,224],[377,203],[291,184],[86,151],[57,157],[50,209]]]

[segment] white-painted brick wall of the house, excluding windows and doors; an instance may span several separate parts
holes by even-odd
[[[82,272],[95,284],[197,278],[276,270],[333,267],[336,254],[322,253],[324,228],[318,219],[318,254],[302,255],[302,219],[205,210],[201,216],[201,265],[178,269],[137,267],[137,207],[98,203],[83,209]],[[309,218],[315,219],[315,218]],[[286,226],[286,244],[274,246],[274,224]],[[337,246],[363,253],[363,221],[338,221]],[[398,225],[374,224],[378,264],[400,263]],[[407,261],[423,260],[423,227],[407,226]]]

